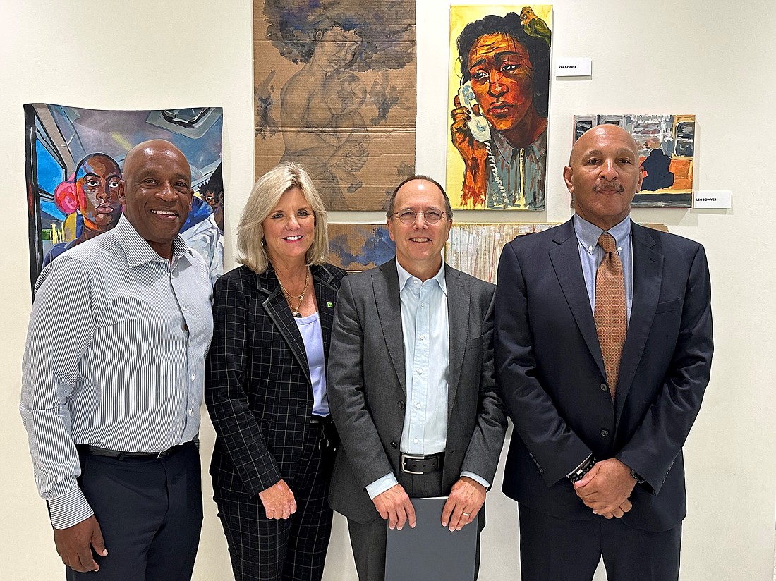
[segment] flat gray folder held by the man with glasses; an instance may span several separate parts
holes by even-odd
[[[442,526],[447,498],[414,498],[416,524],[388,529],[385,581],[473,581],[480,514],[460,531]]]

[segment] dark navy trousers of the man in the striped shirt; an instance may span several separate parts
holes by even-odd
[[[81,455],[81,489],[105,539],[99,572],[67,579],[189,581],[202,530],[202,475],[193,442],[165,458]]]

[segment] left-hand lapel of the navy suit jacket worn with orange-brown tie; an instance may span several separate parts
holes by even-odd
[[[601,375],[606,377],[604,358],[601,356],[601,344],[598,342],[598,333],[595,330],[590,297],[587,296],[587,287],[585,287],[580,263],[579,242],[576,233],[574,233],[573,221],[569,220],[553,228],[553,232],[555,232],[553,242],[557,246],[549,252],[549,259],[553,262],[560,288],[563,289],[566,303],[568,303],[574,320],[577,322],[577,327],[584,337],[587,348],[601,370]]]

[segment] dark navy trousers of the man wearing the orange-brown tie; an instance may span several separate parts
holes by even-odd
[[[681,523],[642,531],[622,519],[567,520],[519,505],[522,581],[591,581],[601,556],[608,581],[677,581]]]

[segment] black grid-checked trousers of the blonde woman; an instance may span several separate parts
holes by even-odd
[[[334,448],[320,451],[320,435],[320,427],[311,424],[289,484],[296,500],[291,517],[267,518],[258,496],[215,489],[237,581],[320,581],[323,576],[331,536],[327,496]]]

